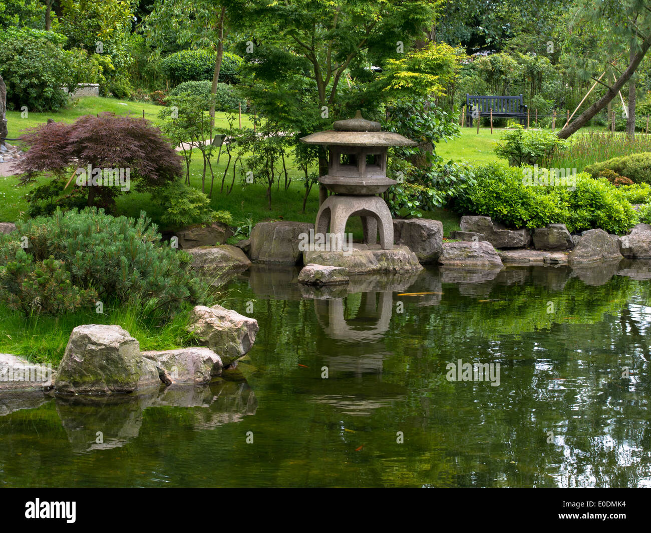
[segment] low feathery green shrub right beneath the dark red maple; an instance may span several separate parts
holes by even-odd
[[[161,222],[173,229],[213,221],[232,224],[229,212],[215,212],[210,207],[210,198],[199,189],[180,182],[159,189],[152,195],[152,200],[165,210]]]

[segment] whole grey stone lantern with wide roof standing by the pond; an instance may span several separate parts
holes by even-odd
[[[393,219],[385,201],[376,195],[396,184],[387,178],[387,148],[417,143],[381,131],[380,122],[362,118],[359,111],[355,118],[337,120],[333,131],[318,131],[300,140],[328,150],[328,173],[319,182],[334,194],[321,204],[314,232],[343,236],[346,221],[357,216],[362,220],[365,244],[376,244],[380,230],[381,249],[393,249]]]

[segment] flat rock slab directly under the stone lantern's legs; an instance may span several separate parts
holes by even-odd
[[[410,272],[422,269],[416,256],[406,246],[395,246],[393,250],[383,250],[380,245],[355,243],[348,252],[303,252],[305,264],[344,267],[348,274],[367,274],[371,272]]]

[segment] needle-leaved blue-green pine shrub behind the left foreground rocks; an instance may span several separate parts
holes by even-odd
[[[199,300],[190,256],[163,245],[145,213],[128,219],[96,208],[57,210],[16,226],[0,235],[0,297],[25,314],[72,312],[102,301],[167,316],[184,301]]]

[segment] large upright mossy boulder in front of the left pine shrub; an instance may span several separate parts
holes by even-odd
[[[118,325],[87,324],[70,334],[59,364],[55,391],[63,394],[118,394],[160,385],[154,362]]]

